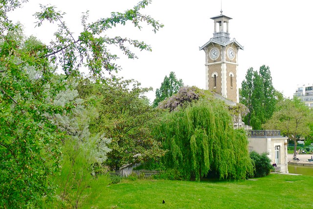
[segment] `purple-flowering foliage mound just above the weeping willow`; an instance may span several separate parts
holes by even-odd
[[[173,94],[171,97],[159,103],[158,108],[167,109],[171,112],[176,110],[178,107],[183,107],[192,101],[199,100],[199,98],[204,95],[205,93],[195,86],[184,86],[179,89],[178,93]]]

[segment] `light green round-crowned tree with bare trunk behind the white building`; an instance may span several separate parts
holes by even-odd
[[[297,140],[310,133],[309,123],[312,111],[298,98],[285,99],[277,104],[277,110],[264,124],[265,128],[279,129],[281,133],[294,142],[293,155],[296,156]]]

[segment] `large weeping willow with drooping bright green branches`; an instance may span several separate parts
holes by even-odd
[[[245,179],[253,172],[244,130],[234,130],[225,105],[200,100],[165,114],[155,130],[168,152],[163,163],[180,171],[186,180],[207,175]]]

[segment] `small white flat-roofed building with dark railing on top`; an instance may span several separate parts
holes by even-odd
[[[280,130],[250,130],[248,135],[249,151],[268,153],[271,163],[276,163],[275,171],[288,173],[288,138],[280,135]]]

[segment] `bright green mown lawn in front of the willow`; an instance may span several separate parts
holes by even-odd
[[[91,192],[93,188],[90,188]],[[311,209],[313,177],[270,174],[240,181],[123,180],[95,188],[86,209]],[[165,204],[162,204],[162,200]]]

